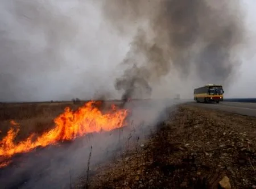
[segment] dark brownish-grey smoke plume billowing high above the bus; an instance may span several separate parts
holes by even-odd
[[[177,72],[181,78],[194,73],[194,79],[226,86],[240,65],[236,53],[245,27],[238,1],[110,0],[103,10],[121,35],[138,29],[123,60],[130,68],[117,80],[118,85],[122,81],[126,86],[124,95],[131,90],[126,83],[134,83],[134,64],[141,73],[139,78],[151,85]]]

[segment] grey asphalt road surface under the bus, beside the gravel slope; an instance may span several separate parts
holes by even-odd
[[[194,106],[205,108],[212,108],[216,110],[231,112],[234,114],[241,114],[256,117],[256,103],[242,103],[242,102],[220,102],[217,103],[196,103],[191,102]]]

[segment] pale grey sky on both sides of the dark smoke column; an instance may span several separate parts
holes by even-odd
[[[2,0],[0,2],[0,102],[92,99],[105,95],[121,98],[115,79],[124,71],[121,62],[140,24],[133,23],[126,35],[111,27],[100,1],[47,3]],[[246,10],[247,42],[241,66],[226,98],[256,97],[256,2],[242,1]],[[193,73],[190,73],[193,74]],[[172,72],[154,86],[156,98],[193,95],[194,79],[179,79]],[[225,87],[225,86],[224,86]]]

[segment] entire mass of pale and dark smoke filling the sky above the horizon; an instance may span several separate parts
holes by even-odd
[[[240,65],[238,0],[5,0],[0,10],[1,101],[118,98],[113,83],[170,95],[180,84],[229,85]]]

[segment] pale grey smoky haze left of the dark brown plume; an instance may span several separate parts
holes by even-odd
[[[117,98],[129,40],[109,31],[96,1],[3,0],[0,15],[0,102]]]

